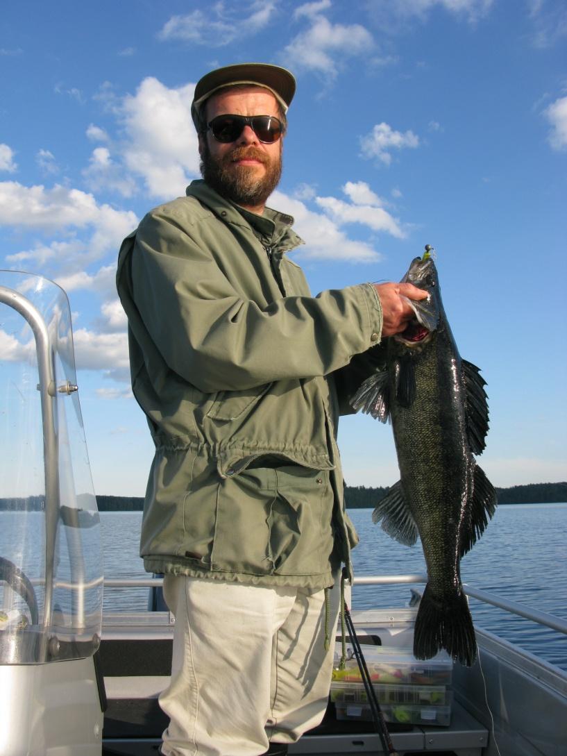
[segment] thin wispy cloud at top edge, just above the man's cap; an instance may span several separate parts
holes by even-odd
[[[271,20],[276,9],[272,0],[255,0],[247,8],[218,2],[203,11],[191,11],[184,16],[172,16],[161,29],[158,39],[180,39],[194,45],[222,47],[235,39],[258,33]]]

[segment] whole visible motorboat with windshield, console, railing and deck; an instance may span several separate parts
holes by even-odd
[[[169,679],[175,618],[160,576],[104,575],[64,291],[42,276],[0,271],[0,344],[0,756],[155,756],[167,723],[157,696]],[[369,661],[389,655],[407,665],[425,582],[425,575],[355,578],[357,592],[407,587],[405,606],[352,612]],[[103,612],[103,590],[111,599],[140,587],[147,610]],[[465,591],[567,634],[562,618],[469,585]],[[475,665],[444,662],[444,706],[410,706],[409,717],[389,723],[395,751],[564,756],[567,673],[481,627],[476,636]],[[364,705],[345,703],[345,685],[333,683],[324,721],[290,745],[290,756],[385,752]],[[420,699],[424,687],[401,684],[392,695]]]

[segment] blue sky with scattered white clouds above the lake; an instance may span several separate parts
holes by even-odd
[[[497,486],[567,480],[565,2],[2,5],[0,268],[69,296],[97,494],[144,495],[153,455],[119,245],[200,177],[195,83],[249,61],[297,79],[268,204],[296,219],[313,294],[400,280],[432,244],[460,355],[488,384],[479,463]],[[339,446],[348,485],[398,479],[391,427],[342,418]]]

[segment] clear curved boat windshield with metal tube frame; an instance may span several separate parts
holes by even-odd
[[[57,284],[0,271],[0,358],[0,665],[85,657],[101,635],[101,528]]]

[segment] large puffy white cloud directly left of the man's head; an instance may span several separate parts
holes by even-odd
[[[121,107],[125,166],[144,178],[153,197],[184,194],[199,175],[197,133],[191,119],[194,84],[169,89],[149,77]]]

